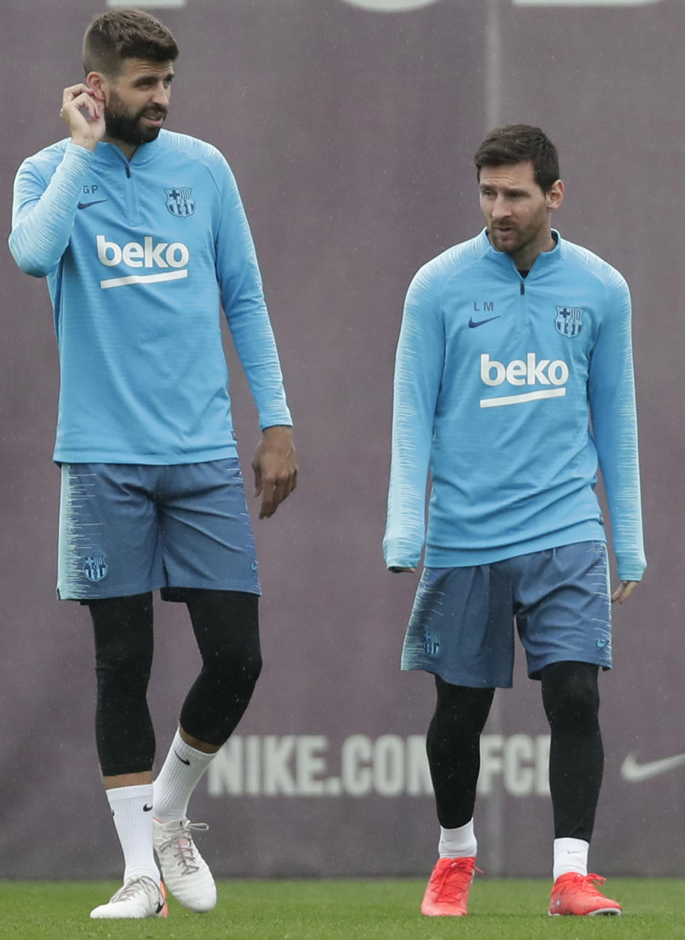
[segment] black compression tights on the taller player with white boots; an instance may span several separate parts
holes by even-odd
[[[196,740],[224,744],[252,696],[261,669],[256,594],[188,590],[202,669],[180,713]],[[150,771],[155,737],[148,711],[152,595],[88,604],[95,634],[96,741],[103,776]]]

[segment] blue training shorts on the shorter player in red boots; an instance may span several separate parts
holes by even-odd
[[[444,682],[510,688],[514,624],[528,675],[551,663],[612,666],[606,545],[582,541],[470,568],[427,568],[402,650],[403,669]]]

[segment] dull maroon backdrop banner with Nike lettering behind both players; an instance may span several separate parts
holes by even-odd
[[[5,0],[0,178],[65,135],[93,0]],[[152,7],[151,4],[146,4]],[[493,123],[557,143],[555,223],[626,275],[649,568],[615,611],[601,680],[606,750],[592,852],[604,874],[681,874],[685,179],[680,0],[176,0],[152,9],[181,55],[168,127],[232,165],[296,421],[300,486],[257,521],[265,668],[192,804],[218,875],[427,874],[438,827],[424,734],[432,682],[398,671],[415,587],[381,538],[392,372],[415,270],[480,228],[471,159]],[[0,877],[118,875],[93,739],[86,611],[54,600],[57,356],[46,286],[0,253],[3,300]],[[243,469],[256,415],[227,341]],[[248,487],[249,489],[249,487]],[[150,704],[163,756],[198,656],[156,607]],[[551,869],[549,737],[521,663],[483,739],[488,874]]]

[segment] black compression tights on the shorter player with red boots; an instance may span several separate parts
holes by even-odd
[[[603,751],[599,733],[598,666],[554,663],[542,670],[542,701],[550,722],[550,789],[555,838],[590,841],[599,799]],[[428,728],[430,776],[440,824],[454,829],[474,814],[479,741],[494,689],[450,685],[436,677],[438,700]]]

